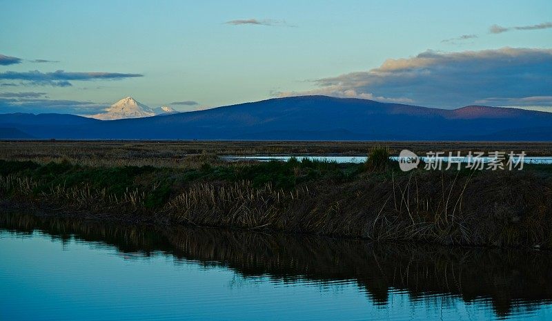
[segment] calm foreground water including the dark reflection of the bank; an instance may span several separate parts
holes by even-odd
[[[546,320],[552,254],[0,214],[0,320]]]

